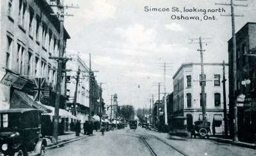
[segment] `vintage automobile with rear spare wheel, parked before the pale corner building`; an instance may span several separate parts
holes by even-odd
[[[200,136],[200,138],[209,138],[211,129],[210,129],[210,122],[198,120],[194,122],[194,127],[191,129],[191,138],[194,136]]]

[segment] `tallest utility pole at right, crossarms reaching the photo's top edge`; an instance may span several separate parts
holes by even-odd
[[[244,1],[244,0],[240,0]],[[237,72],[237,63],[236,63],[236,25],[235,25],[235,17],[243,17],[243,15],[235,15],[234,13],[234,7],[235,6],[248,6],[247,4],[234,4],[234,0],[230,0],[230,4],[227,3],[215,3],[217,5],[226,5],[230,6],[231,9],[231,15],[223,15],[223,16],[231,16],[231,24],[232,24],[232,80],[230,80],[233,83],[232,86],[232,95],[230,95],[231,99],[231,106],[230,106],[230,112],[233,110],[233,139],[234,141],[238,141],[237,131],[238,131],[238,125],[237,125],[237,82],[236,82],[236,72]],[[232,107],[233,106],[233,107]],[[231,118],[232,119],[232,118]],[[230,123],[231,124],[231,123]]]

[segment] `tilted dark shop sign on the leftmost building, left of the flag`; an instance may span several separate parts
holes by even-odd
[[[19,90],[23,89],[27,82],[28,81],[24,78],[20,78],[19,76],[10,72],[6,72],[3,79],[1,80],[1,83],[3,83],[4,85],[12,86],[15,89]]]

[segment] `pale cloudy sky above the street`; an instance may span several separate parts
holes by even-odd
[[[204,62],[228,62],[227,41],[231,38],[230,6],[226,0],[65,0],[65,4],[78,5],[68,8],[65,28],[71,36],[67,50],[77,53],[89,64],[97,82],[102,85],[104,102],[111,103],[111,94],[118,95],[118,103],[132,104],[134,108],[150,106],[150,96],[158,99],[156,83],[164,84],[166,62],[166,92],[173,91],[172,76],[182,63],[200,62],[199,44],[190,38],[206,38],[203,41]],[[247,22],[256,22],[256,2],[237,1],[248,7],[236,7],[236,31]],[[170,11],[145,11],[148,8],[170,8]],[[182,12],[173,12],[177,7]],[[183,9],[218,9],[225,12],[209,12],[207,17],[216,20],[177,20],[174,16],[204,17],[202,12]],[[173,18],[172,18],[173,17]],[[161,86],[161,93],[163,93]],[[163,94],[161,94],[163,96]]]

